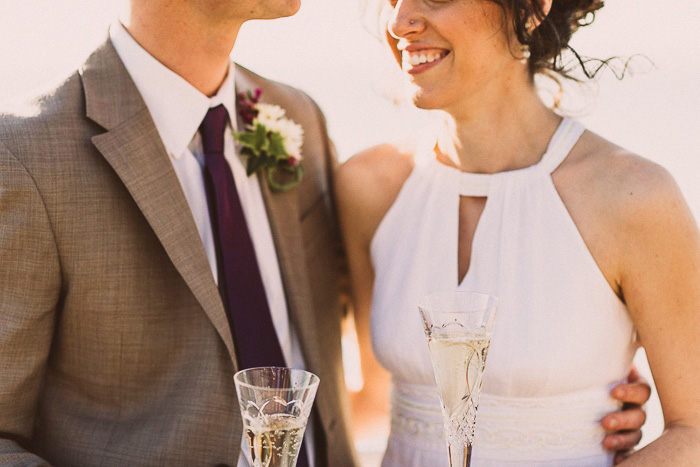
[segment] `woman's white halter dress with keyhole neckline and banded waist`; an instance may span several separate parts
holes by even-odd
[[[608,466],[601,417],[628,373],[633,324],[591,256],[551,173],[583,133],[564,119],[536,165],[473,174],[427,144],[371,244],[372,344],[393,380],[385,467],[447,466],[440,402],[416,307],[429,293],[499,298],[472,467]],[[434,141],[434,140],[433,140]],[[485,196],[457,283],[460,196]]]

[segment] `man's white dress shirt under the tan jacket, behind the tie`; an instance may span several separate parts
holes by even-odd
[[[124,62],[136,88],[141,93],[163,145],[170,156],[192,211],[215,281],[218,281],[216,247],[204,188],[202,172],[204,154],[198,129],[209,108],[223,104],[228,111],[230,118],[224,136],[224,156],[231,167],[236,182],[238,196],[255,248],[267,303],[272,314],[272,322],[287,365],[294,368],[304,368],[301,347],[289,322],[277,253],[258,177],[246,175],[244,162],[235,150],[232,133],[236,129],[236,98],[233,76],[235,67],[231,64],[229,73],[217,94],[208,97],[149,54],[134,40],[121,23],[112,24],[110,38],[119,58]],[[231,125],[234,127],[232,128]],[[310,431],[311,426],[308,429]],[[307,448],[311,449],[312,437],[307,436],[306,438]],[[246,448],[245,443],[244,439],[244,449]],[[309,453],[311,452],[313,451]],[[313,461],[312,457],[310,456],[310,461]],[[246,467],[247,465],[241,454],[238,466]]]

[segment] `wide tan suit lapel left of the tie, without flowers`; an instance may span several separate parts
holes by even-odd
[[[150,113],[109,40],[80,74],[87,116],[107,130],[93,143],[129,190],[235,365],[226,313],[189,205]]]

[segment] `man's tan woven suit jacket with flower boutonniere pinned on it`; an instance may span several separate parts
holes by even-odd
[[[328,443],[356,465],[340,349],[333,148],[303,93],[238,68],[305,130],[306,178],[261,183]],[[261,180],[262,181],[262,180]],[[235,349],[151,116],[111,43],[0,116],[0,465],[235,465]]]

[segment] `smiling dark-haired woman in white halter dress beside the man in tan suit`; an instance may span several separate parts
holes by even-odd
[[[624,465],[700,465],[695,221],[664,169],[562,118],[533,83],[535,73],[565,74],[560,53],[601,6],[390,1],[389,43],[413,102],[447,123],[337,174],[356,320],[392,379],[384,466],[447,465],[416,308],[443,290],[500,300],[473,467],[612,465],[643,421],[639,410],[603,418],[619,409],[610,392],[639,345],[666,430]],[[622,389],[631,401],[644,393]],[[606,438],[601,419],[632,434]]]

